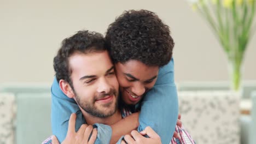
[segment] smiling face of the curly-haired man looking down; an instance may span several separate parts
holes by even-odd
[[[159,67],[148,66],[137,60],[115,64],[122,99],[135,105],[156,82]]]

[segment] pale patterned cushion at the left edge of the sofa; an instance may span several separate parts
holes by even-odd
[[[15,103],[14,95],[0,93],[0,143],[14,143]]]

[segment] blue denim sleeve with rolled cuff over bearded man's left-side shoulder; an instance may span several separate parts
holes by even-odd
[[[68,98],[60,89],[59,83],[54,77],[53,85],[51,86],[51,129],[53,135],[62,142],[65,140],[68,130],[68,121],[72,113],[76,113],[75,131],[78,131],[80,126],[85,122],[82,111],[80,111],[74,99]],[[97,127],[97,139],[95,143],[109,143],[112,136],[112,129],[108,125],[95,124]]]

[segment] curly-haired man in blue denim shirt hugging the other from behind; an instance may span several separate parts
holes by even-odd
[[[122,119],[110,127],[102,125],[96,143],[114,143],[129,131],[137,127],[142,131],[148,126],[161,137],[162,143],[193,143],[189,135],[185,139],[172,137],[175,130],[182,133],[183,129],[176,127],[178,100],[173,76],[174,43],[168,26],[151,11],[125,11],[110,24],[106,42],[120,86],[119,105],[129,109],[123,112],[125,116],[133,114],[126,117],[126,121]],[[61,91],[56,79],[52,100],[53,134],[63,141],[71,113],[77,114],[75,130],[85,123],[85,119],[75,101],[67,99]],[[128,135],[124,137],[131,142],[133,139],[130,138]]]

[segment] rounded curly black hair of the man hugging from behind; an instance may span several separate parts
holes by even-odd
[[[174,42],[170,29],[152,11],[124,11],[109,25],[105,39],[114,63],[135,59],[162,67],[172,57]]]

